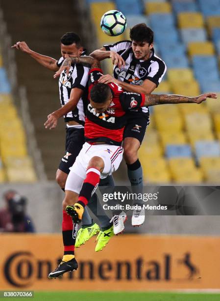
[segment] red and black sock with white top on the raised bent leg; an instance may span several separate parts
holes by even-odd
[[[86,172],[86,179],[83,182],[82,188],[79,193],[78,203],[85,207],[96,188],[98,187],[98,183],[100,181],[100,175],[98,169],[89,168]]]

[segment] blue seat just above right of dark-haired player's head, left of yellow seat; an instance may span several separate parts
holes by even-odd
[[[155,29],[170,29],[174,28],[174,18],[172,14],[150,14],[149,15],[150,26]]]

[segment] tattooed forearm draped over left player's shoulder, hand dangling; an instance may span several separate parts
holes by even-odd
[[[71,64],[81,63],[83,66],[90,68],[94,61],[95,59],[89,56],[66,58],[60,66],[59,70],[53,75],[53,78],[59,77],[63,70],[66,70],[66,74],[68,75]]]

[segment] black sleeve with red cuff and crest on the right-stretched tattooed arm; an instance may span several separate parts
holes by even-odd
[[[120,94],[120,103],[124,111],[137,110],[144,107],[145,104],[145,94],[126,92]]]

